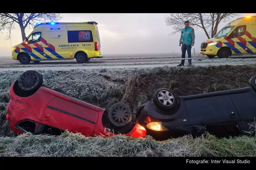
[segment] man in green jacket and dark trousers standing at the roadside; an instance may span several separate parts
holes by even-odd
[[[185,28],[181,30],[181,39],[180,46],[182,44],[182,55],[181,55],[181,64],[177,66],[184,66],[185,63],[185,54],[187,51],[188,55],[188,65],[191,65],[191,48],[195,44],[195,30],[192,27],[189,27],[189,21],[185,21]]]

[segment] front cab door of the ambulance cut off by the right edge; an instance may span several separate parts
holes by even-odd
[[[224,44],[233,51],[232,54],[253,53],[252,50],[247,47],[248,37],[245,35],[247,27],[248,24],[237,26],[226,38],[228,42]]]

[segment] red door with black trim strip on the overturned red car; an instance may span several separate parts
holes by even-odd
[[[92,136],[97,119],[98,112],[54,97],[47,104],[40,123],[60,130]]]

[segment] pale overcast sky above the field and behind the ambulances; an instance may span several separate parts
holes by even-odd
[[[62,14],[60,22],[96,21],[101,40],[101,53],[104,54],[140,54],[181,52],[179,47],[180,33],[168,35],[172,27],[167,26],[165,16],[169,14]],[[256,14],[241,14],[239,17]],[[237,17],[236,17],[237,18]],[[233,20],[234,18],[232,18]],[[227,22],[226,22],[227,23]],[[220,30],[226,23],[218,26]],[[5,31],[0,33],[0,56],[11,56],[11,48],[22,42],[20,28],[11,32],[11,40],[4,40]],[[26,36],[32,29],[26,29]],[[202,29],[195,30],[195,51],[207,40]]]

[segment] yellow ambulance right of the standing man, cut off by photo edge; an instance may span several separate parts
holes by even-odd
[[[201,54],[213,58],[256,54],[256,16],[234,19],[201,44]]]

